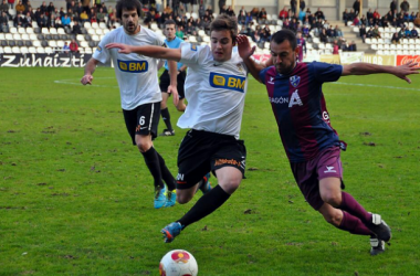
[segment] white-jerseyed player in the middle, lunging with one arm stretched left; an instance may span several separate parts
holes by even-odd
[[[189,202],[208,171],[219,185],[204,193],[187,214],[161,230],[170,243],[189,224],[201,220],[221,206],[238,189],[245,170],[246,150],[239,140],[248,68],[235,45],[235,18],[219,15],[210,26],[211,49],[183,43],[180,49],[130,46],[117,43],[120,53],[138,53],[157,59],[180,61],[188,66],[185,94],[188,106],[178,120],[190,128],[178,152],[177,201]],[[202,181],[201,181],[202,182]]]

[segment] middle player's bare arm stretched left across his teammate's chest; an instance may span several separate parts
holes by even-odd
[[[155,59],[169,60],[179,62],[181,60],[181,49],[169,49],[162,46],[132,46],[123,43],[109,43],[105,45],[106,49],[119,49],[118,52],[123,54],[136,53]]]

